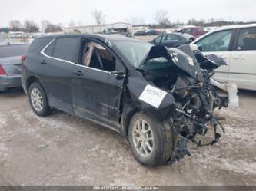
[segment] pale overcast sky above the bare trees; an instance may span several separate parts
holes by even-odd
[[[91,12],[105,13],[105,22],[141,21],[154,23],[158,9],[168,11],[171,21],[188,21],[190,18],[210,18],[234,21],[256,21],[255,0],[3,0],[0,2],[0,26],[8,21],[32,19],[62,22],[72,20],[81,25],[93,25]]]

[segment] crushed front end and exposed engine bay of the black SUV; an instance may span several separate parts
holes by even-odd
[[[148,55],[141,66],[146,80],[175,97],[175,111],[168,123],[180,140],[170,162],[190,156],[186,147],[188,140],[198,147],[218,142],[221,137],[218,129],[225,131],[214,109],[238,105],[235,84],[230,87],[230,84],[221,84],[211,78],[214,69],[226,64],[224,60],[214,54],[206,58],[200,51],[192,51],[189,45],[153,47]],[[196,139],[196,135],[204,136],[210,128],[214,130],[212,140],[202,143]]]

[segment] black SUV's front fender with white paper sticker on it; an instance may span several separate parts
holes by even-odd
[[[125,85],[121,117],[125,134],[127,133],[129,120],[137,111],[154,116],[159,121],[167,121],[175,110],[175,98],[172,94],[141,79],[143,78],[131,77],[128,84]]]

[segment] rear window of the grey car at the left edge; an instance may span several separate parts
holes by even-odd
[[[0,58],[21,56],[27,48],[27,44],[0,46]]]

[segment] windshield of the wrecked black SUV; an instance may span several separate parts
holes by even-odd
[[[141,41],[114,41],[113,44],[135,68],[140,68],[142,61],[153,46],[148,42]]]

